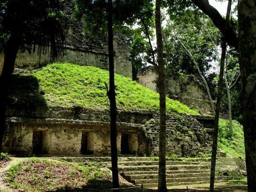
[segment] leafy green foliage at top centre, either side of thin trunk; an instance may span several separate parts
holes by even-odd
[[[105,0],[75,0],[73,16],[85,21],[85,32],[92,38],[103,39],[108,32],[107,2]],[[123,25],[132,26],[140,16],[152,17],[153,3],[147,0],[113,0],[113,32]],[[129,10],[129,11],[128,11]]]

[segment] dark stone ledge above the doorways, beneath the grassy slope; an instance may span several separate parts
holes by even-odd
[[[25,105],[25,104],[24,104]],[[154,111],[140,109],[119,110],[117,122],[143,124],[152,118]],[[21,117],[32,119],[67,119],[110,122],[109,110],[88,109],[82,106],[38,106],[25,108],[23,105],[12,103],[7,110],[7,117]]]

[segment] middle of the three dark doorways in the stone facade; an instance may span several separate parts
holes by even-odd
[[[93,136],[91,132],[82,131],[81,154],[93,154]]]

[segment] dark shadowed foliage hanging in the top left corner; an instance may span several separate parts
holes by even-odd
[[[6,44],[14,38],[21,51],[31,52],[32,45],[37,45],[39,53],[49,52],[50,58],[55,60],[65,42],[59,5],[58,0],[1,0],[0,48],[8,47]]]

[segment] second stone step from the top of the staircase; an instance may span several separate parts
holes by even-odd
[[[149,166],[158,165],[158,161],[121,161],[119,166]],[[166,161],[166,165],[210,165],[211,162],[202,161]]]

